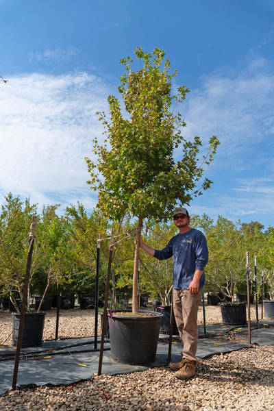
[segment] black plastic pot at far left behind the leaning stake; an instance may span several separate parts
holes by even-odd
[[[26,313],[21,347],[40,347],[45,324],[45,312]],[[12,313],[12,345],[17,345],[20,313]]]

